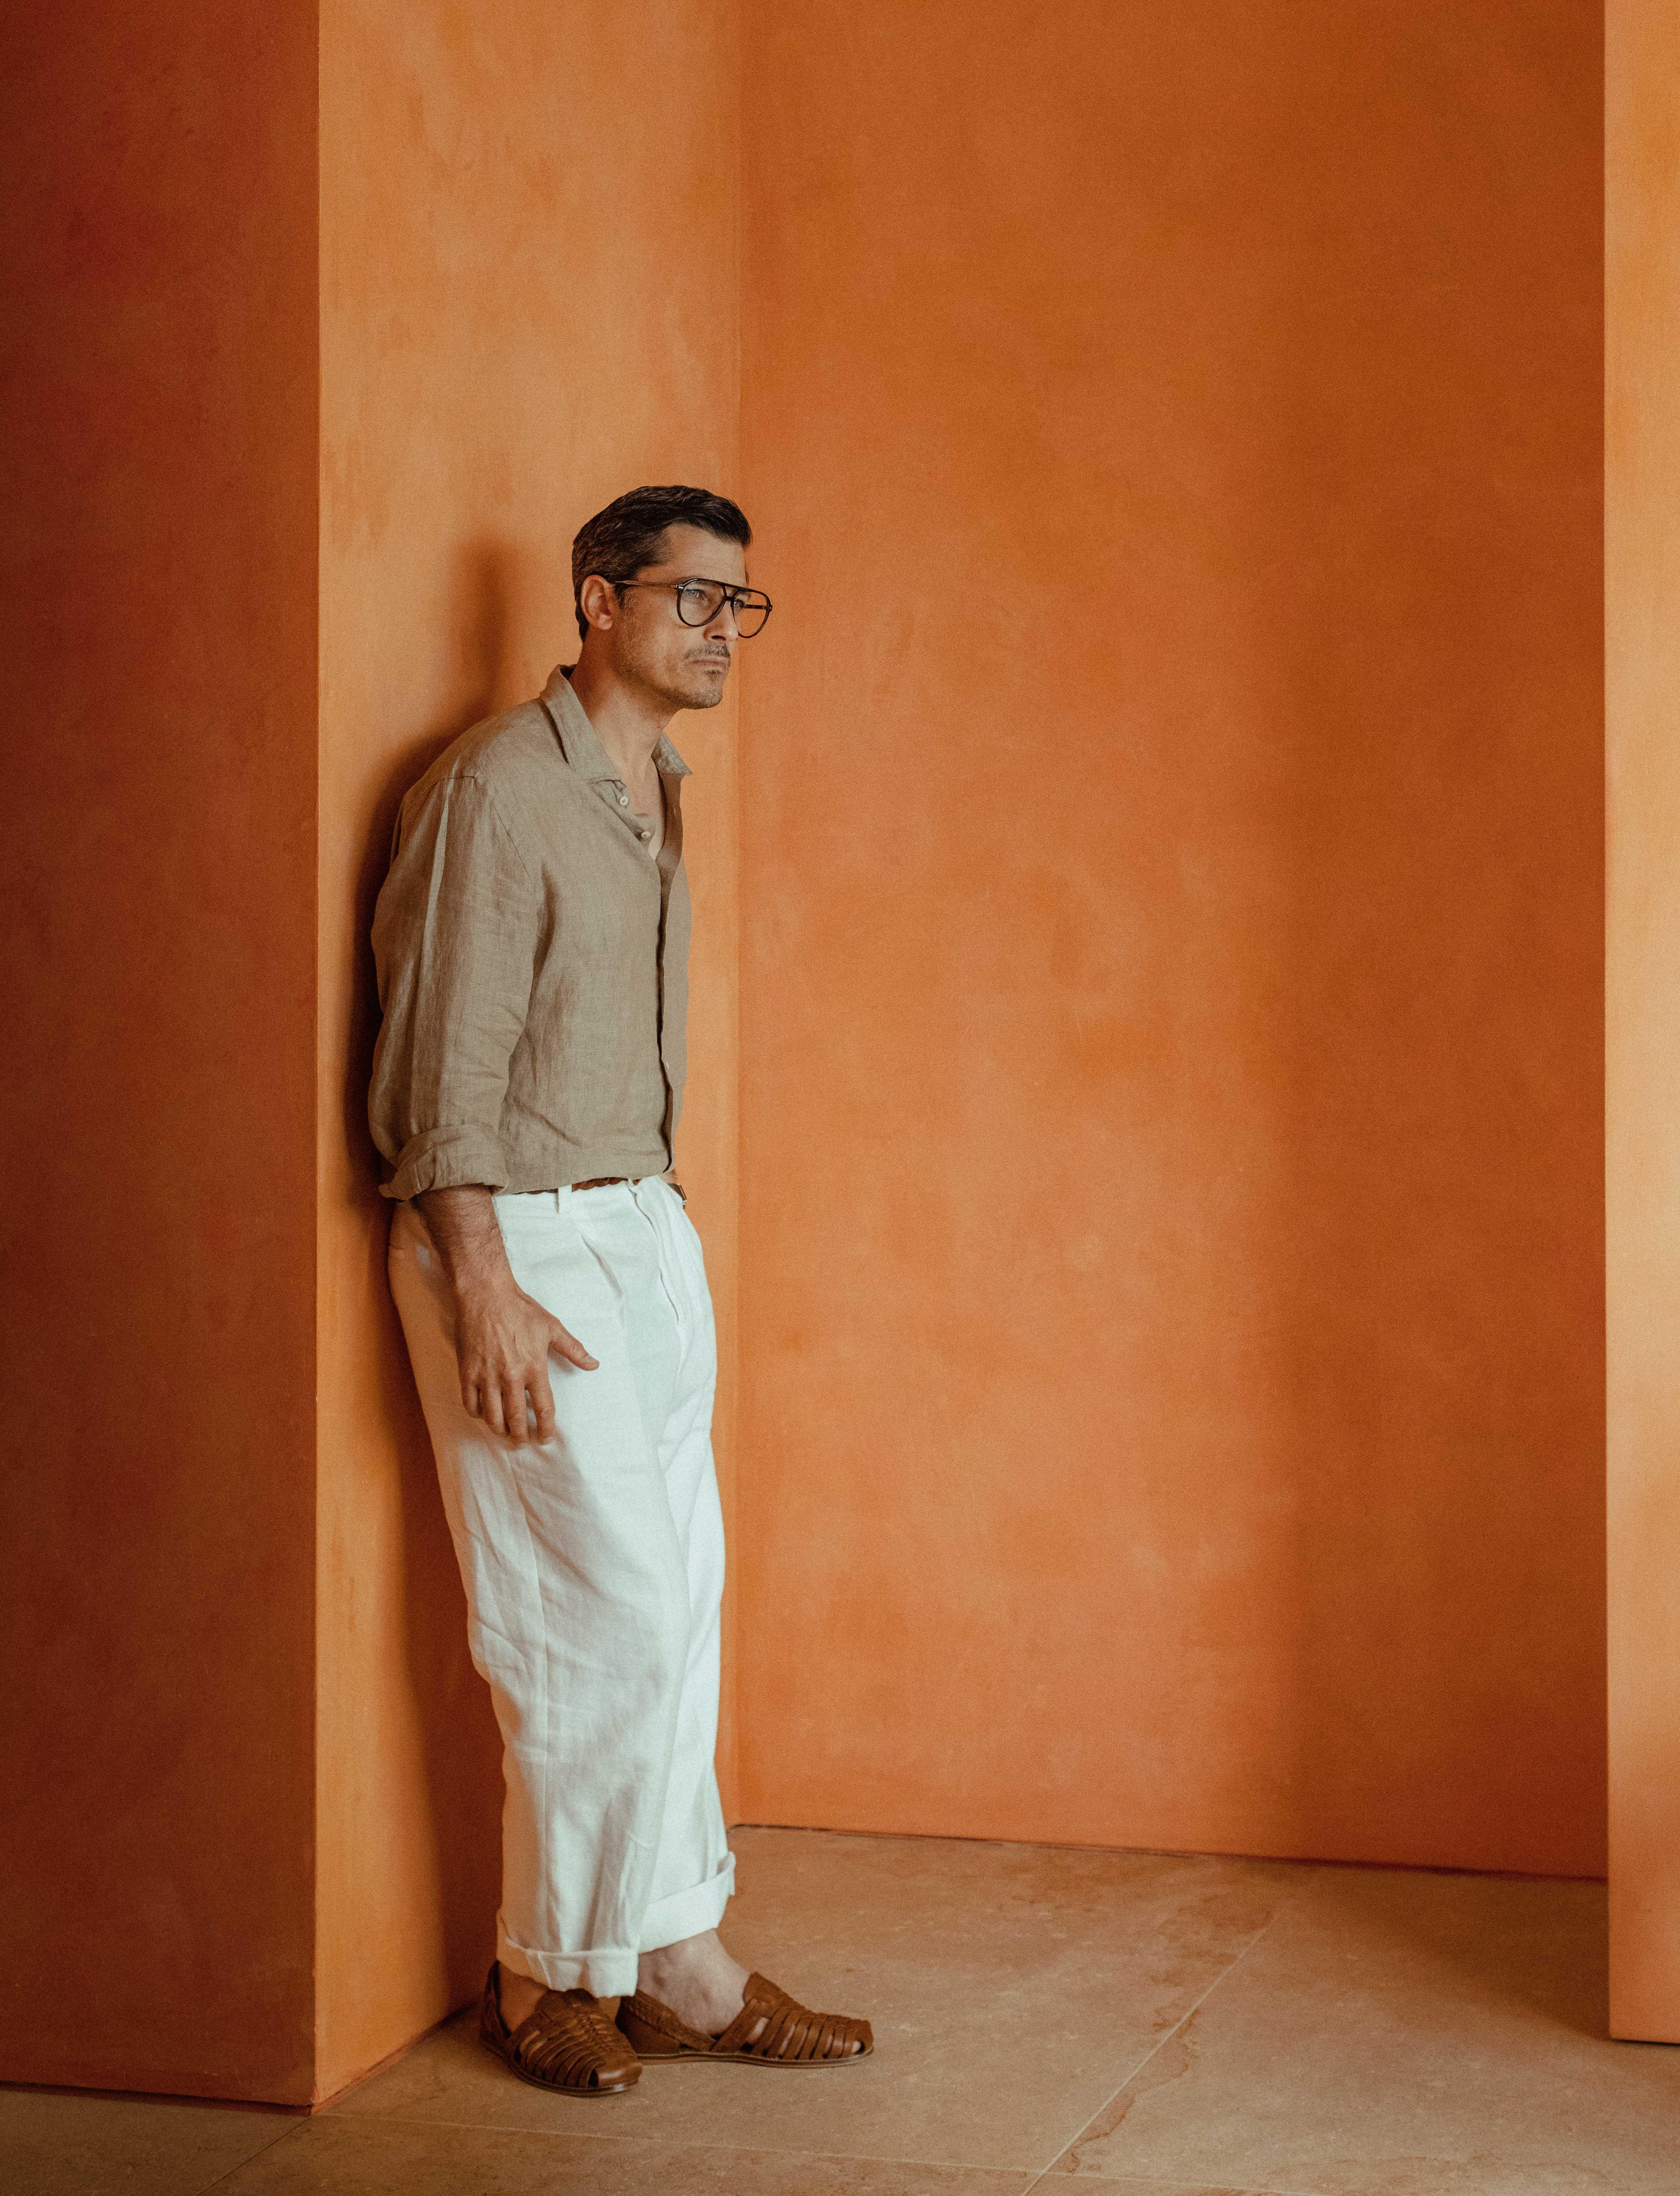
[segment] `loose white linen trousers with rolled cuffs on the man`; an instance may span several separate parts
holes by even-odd
[[[494,1206],[514,1280],[600,1359],[549,1357],[551,1441],[468,1414],[455,1298],[408,1203],[391,1293],[503,1735],[496,1954],[611,1998],[637,1987],[637,1952],[716,1928],[733,1889],[714,1770],[712,1296],[683,1199],[654,1175]]]

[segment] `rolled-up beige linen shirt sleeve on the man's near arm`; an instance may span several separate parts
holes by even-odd
[[[411,802],[373,911],[384,1023],[367,1118],[395,1168],[387,1197],[474,1181],[499,1190],[542,887],[481,780],[448,775]]]

